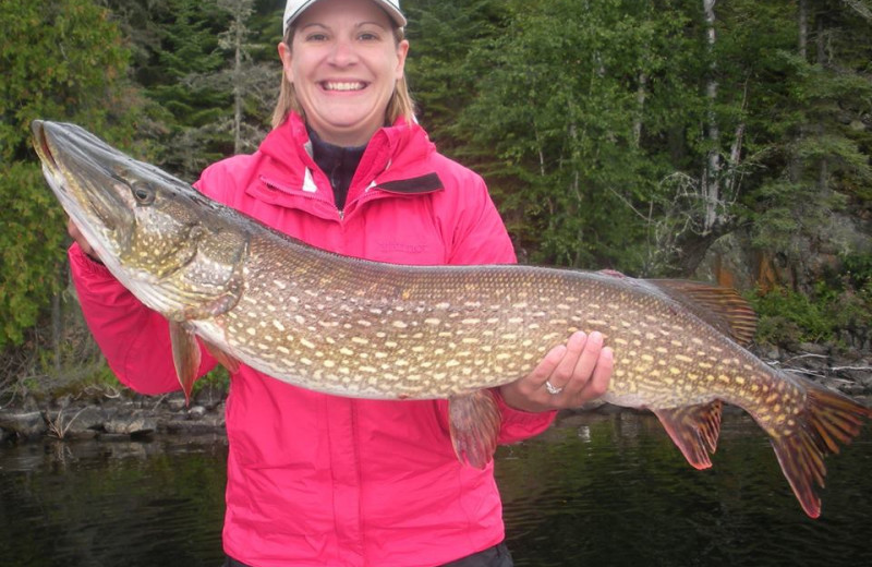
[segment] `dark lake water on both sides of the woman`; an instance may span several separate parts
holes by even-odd
[[[744,415],[702,472],[651,415],[569,417],[499,450],[508,543],[519,567],[872,565],[869,430],[811,520]],[[218,567],[227,448],[186,442],[0,446],[0,565]]]

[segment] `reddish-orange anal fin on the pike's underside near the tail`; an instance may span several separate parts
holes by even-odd
[[[720,434],[719,400],[700,406],[686,406],[654,410],[666,433],[681,449],[685,458],[697,469],[712,466],[710,453],[717,448]]]

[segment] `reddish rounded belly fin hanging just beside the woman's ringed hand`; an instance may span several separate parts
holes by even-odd
[[[457,458],[484,469],[494,458],[499,435],[499,408],[493,395],[479,390],[449,399],[448,421]]]

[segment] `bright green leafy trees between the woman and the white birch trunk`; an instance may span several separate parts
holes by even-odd
[[[670,135],[678,105],[700,107],[677,72],[688,22],[632,2],[552,0],[510,2],[499,25],[461,68],[479,92],[457,128],[491,156],[477,167],[523,219],[510,230],[535,262],[641,272],[670,170],[646,141]]]

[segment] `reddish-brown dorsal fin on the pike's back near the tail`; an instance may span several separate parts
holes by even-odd
[[[747,347],[756,333],[756,313],[732,288],[687,279],[645,280],[681,303],[739,345]]]

